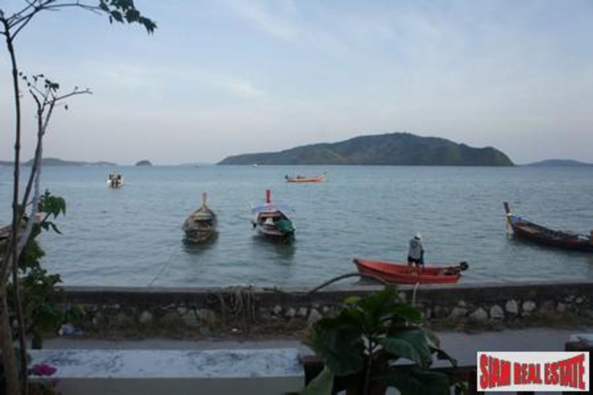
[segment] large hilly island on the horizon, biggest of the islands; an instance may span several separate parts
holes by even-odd
[[[513,166],[493,147],[474,148],[440,137],[411,133],[359,136],[337,143],[299,146],[280,152],[228,156],[219,165],[436,165]]]

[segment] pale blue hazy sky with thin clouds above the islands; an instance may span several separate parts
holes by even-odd
[[[18,38],[21,70],[93,90],[55,113],[44,156],[215,162],[409,131],[517,163],[593,162],[589,0],[135,4],[157,21],[153,36],[71,9],[38,15]],[[11,159],[2,45],[0,159]],[[32,107],[24,118],[28,159]]]

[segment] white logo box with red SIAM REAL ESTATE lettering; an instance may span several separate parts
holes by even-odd
[[[478,391],[589,391],[589,352],[478,352]]]

